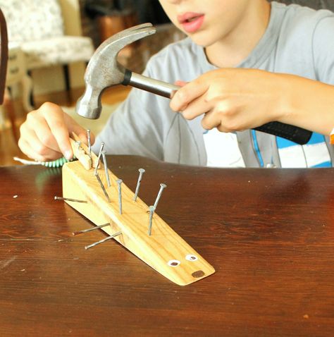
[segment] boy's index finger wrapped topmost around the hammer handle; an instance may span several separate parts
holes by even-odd
[[[173,111],[183,111],[197,97],[202,96],[208,90],[208,84],[204,81],[194,80],[187,83],[175,92],[171,99],[171,109]]]

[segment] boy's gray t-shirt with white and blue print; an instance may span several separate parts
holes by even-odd
[[[334,85],[333,33],[333,12],[273,2],[264,36],[237,67],[290,73]],[[215,68],[206,59],[204,49],[186,38],[151,57],[144,75],[173,83],[194,80]],[[202,116],[186,121],[170,109],[169,102],[132,89],[109,118],[93,149],[98,151],[103,141],[109,154],[137,154],[179,164],[233,166],[219,164],[219,158],[231,148],[223,137],[220,140],[219,134],[223,133],[214,130],[206,133],[201,125]],[[327,163],[324,166],[333,166],[333,145],[329,145],[327,137],[324,141],[325,137],[321,140],[319,136],[312,137],[309,145],[300,146],[278,141],[273,135],[245,130],[235,133],[234,148],[242,158],[233,160],[238,163],[236,166],[247,167],[316,167],[324,162]]]

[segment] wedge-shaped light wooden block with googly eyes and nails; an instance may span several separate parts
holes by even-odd
[[[85,145],[82,145],[85,148]],[[85,151],[87,149],[85,148]],[[96,156],[92,154],[93,162]],[[185,286],[214,273],[214,268],[205,261],[183,238],[181,238],[161,217],[154,213],[151,235],[148,235],[149,207],[139,197],[133,201],[134,193],[122,184],[122,214],[119,212],[118,185],[111,171],[111,187],[106,184],[104,167],[100,164],[99,176],[111,202],[109,203],[94,176],[94,168],[86,170],[80,161],[63,166],[63,197],[87,200],[86,203],[67,202],[97,226],[112,235],[118,231],[117,240],[133,254],[171,281]],[[98,248],[96,248],[98,249]]]

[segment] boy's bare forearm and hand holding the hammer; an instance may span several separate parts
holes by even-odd
[[[295,75],[256,69],[218,69],[175,93],[171,109],[223,132],[256,128],[270,121],[329,135],[334,125],[334,87]]]

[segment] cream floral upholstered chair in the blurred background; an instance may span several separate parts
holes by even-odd
[[[79,8],[78,0],[0,0],[0,8],[7,22],[8,41],[20,45],[28,71],[87,62],[94,52],[92,39],[80,36],[80,11],[71,13]],[[73,22],[65,19],[78,22],[72,34],[68,27],[73,27]]]

